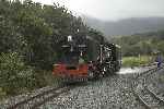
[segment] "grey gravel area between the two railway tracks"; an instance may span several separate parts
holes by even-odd
[[[46,102],[40,109],[144,109],[130,84],[137,74],[109,76],[75,87],[69,94]]]

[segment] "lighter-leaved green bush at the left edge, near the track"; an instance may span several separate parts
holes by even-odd
[[[34,70],[26,66],[16,52],[0,56],[0,88],[7,95],[19,94],[34,87]]]

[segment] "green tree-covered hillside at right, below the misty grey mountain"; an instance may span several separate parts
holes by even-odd
[[[164,53],[164,31],[113,37],[112,41],[121,46],[122,56]]]

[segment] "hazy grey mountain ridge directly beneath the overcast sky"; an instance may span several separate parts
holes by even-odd
[[[117,22],[104,22],[90,16],[83,16],[84,22],[105,36],[132,35],[164,29],[164,17],[132,17]]]

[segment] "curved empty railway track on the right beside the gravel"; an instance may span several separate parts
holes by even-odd
[[[159,97],[153,90],[151,90],[145,82],[151,74],[164,69],[153,66],[152,69],[142,72],[137,77],[134,77],[131,88],[139,101],[145,107],[145,109],[164,109],[164,99]],[[139,89],[140,88],[140,89]]]

